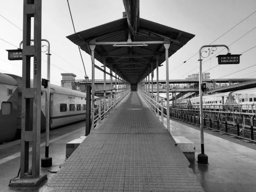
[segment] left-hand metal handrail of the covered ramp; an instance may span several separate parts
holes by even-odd
[[[96,127],[96,124],[102,122],[108,113],[119,104],[119,102],[131,91],[131,88],[124,88],[122,91],[102,96],[93,101],[91,107],[92,125],[91,131]]]

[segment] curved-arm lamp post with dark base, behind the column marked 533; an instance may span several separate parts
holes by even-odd
[[[31,42],[34,41],[31,39]],[[41,167],[50,167],[52,166],[52,157],[49,157],[49,129],[50,129],[50,43],[46,39],[42,39],[41,41],[46,41],[47,45],[42,45],[42,47],[47,47],[47,93],[46,93],[46,139],[45,139],[45,158],[41,159]],[[20,49],[21,44],[23,41],[20,42]]]

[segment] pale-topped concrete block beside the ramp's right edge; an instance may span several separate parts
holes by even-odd
[[[188,160],[195,159],[195,143],[182,136],[177,136],[173,138],[177,143],[175,145],[180,148],[180,150],[183,152],[183,154],[185,154]]]

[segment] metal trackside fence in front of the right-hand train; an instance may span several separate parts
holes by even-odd
[[[217,131],[229,132],[236,137],[254,141],[255,108],[255,104],[203,105],[204,127],[206,127],[206,123],[209,123],[209,128],[212,128],[212,123],[215,122]],[[170,117],[200,125],[199,105],[170,106],[169,109]],[[221,127],[223,131],[221,131]]]

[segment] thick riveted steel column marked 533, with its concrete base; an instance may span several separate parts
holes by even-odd
[[[40,176],[41,144],[41,0],[23,1],[22,119],[20,178],[9,186],[37,186],[47,179]],[[34,17],[34,45],[31,45],[31,18]],[[34,56],[33,87],[30,87],[30,58]],[[29,142],[32,143],[32,169],[29,169]],[[29,180],[30,183],[24,181]]]

